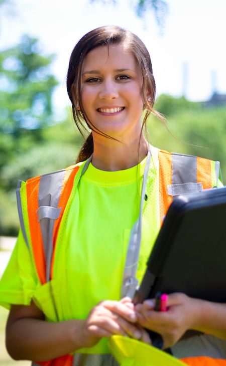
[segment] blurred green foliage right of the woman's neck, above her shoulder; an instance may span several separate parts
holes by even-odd
[[[171,103],[174,109],[170,107]],[[225,182],[226,106],[206,108],[183,98],[160,96],[155,107],[168,116],[166,125],[170,133],[152,116],[148,121],[150,142],[164,150],[219,160]]]

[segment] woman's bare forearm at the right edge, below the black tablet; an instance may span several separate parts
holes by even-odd
[[[193,329],[226,339],[226,304],[197,300]]]

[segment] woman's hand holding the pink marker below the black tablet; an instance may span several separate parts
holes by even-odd
[[[200,301],[182,293],[168,295],[168,311],[155,311],[155,300],[146,300],[137,304],[135,310],[138,324],[160,333],[163,337],[164,348],[175,344],[187,329],[194,329]]]

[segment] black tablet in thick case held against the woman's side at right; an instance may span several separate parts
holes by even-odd
[[[226,187],[173,200],[133,301],[159,291],[226,302]]]

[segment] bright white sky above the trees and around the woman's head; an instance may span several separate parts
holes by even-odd
[[[75,43],[89,30],[108,24],[127,28],[144,41],[158,94],[181,96],[185,87],[185,96],[198,101],[208,99],[213,89],[226,93],[225,0],[168,0],[164,29],[157,27],[151,12],[139,19],[135,3],[118,0],[114,6],[89,0],[15,0],[2,15],[0,48],[15,45],[28,33],[40,40],[44,53],[56,54],[52,72],[60,82],[54,94],[59,113],[69,105],[65,78]],[[183,65],[187,69],[185,84]]]

